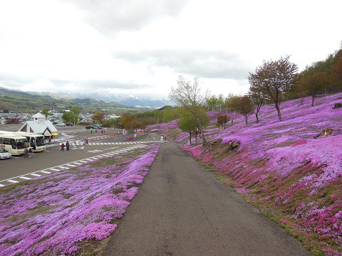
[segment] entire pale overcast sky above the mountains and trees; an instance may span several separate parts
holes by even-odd
[[[0,86],[167,97],[247,92],[263,60],[338,50],[341,0],[0,0]]]

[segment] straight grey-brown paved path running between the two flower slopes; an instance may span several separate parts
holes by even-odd
[[[103,255],[311,254],[169,142]]]

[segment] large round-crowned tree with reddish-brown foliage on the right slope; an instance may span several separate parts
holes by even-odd
[[[279,121],[281,121],[280,103],[297,78],[298,67],[289,61],[290,56],[279,60],[268,60],[257,67],[255,73],[249,73],[249,83],[259,88],[266,95],[267,100],[275,103]]]

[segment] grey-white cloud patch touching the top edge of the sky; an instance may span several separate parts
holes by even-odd
[[[105,36],[135,31],[163,16],[176,17],[189,0],[63,0],[83,11],[86,23]]]

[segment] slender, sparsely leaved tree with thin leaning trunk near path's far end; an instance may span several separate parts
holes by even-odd
[[[189,112],[195,115],[199,131],[202,134],[203,144],[205,144],[205,137],[203,132],[203,124],[199,117],[200,109],[207,99],[208,92],[201,93],[201,88],[198,84],[198,78],[194,78],[194,82],[183,78],[182,75],[177,80],[177,87],[172,87],[170,92],[170,99],[177,102],[182,107],[185,107]]]

